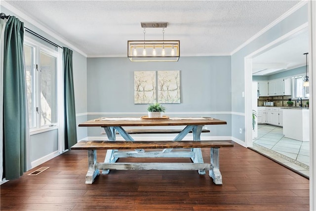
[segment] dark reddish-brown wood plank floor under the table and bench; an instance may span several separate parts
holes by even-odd
[[[202,153],[208,161],[209,149]],[[104,156],[105,151],[98,151],[98,162]],[[144,161],[119,161],[127,160]],[[27,175],[40,167],[50,168]],[[92,185],[84,184],[84,150],[67,152],[40,167],[0,186],[1,211],[309,211],[308,179],[236,143],[220,150],[223,185],[183,170],[113,170]]]

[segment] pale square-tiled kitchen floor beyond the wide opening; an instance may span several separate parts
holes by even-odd
[[[282,127],[258,125],[258,137],[252,148],[309,176],[310,142],[284,137]]]

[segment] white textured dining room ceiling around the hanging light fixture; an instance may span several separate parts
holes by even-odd
[[[165,40],[180,40],[182,56],[229,55],[299,2],[4,1],[88,57],[126,56],[127,40],[143,40],[140,22],[149,21],[169,23]],[[146,40],[162,40],[161,29],[146,29]]]

